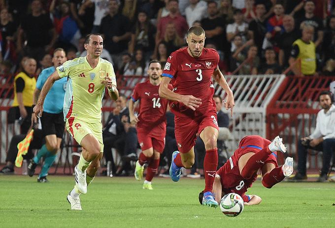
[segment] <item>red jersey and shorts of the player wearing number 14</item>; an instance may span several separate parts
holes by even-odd
[[[166,134],[166,112],[168,100],[158,94],[159,85],[150,81],[135,85],[132,100],[139,100],[137,138],[142,150],[153,147],[163,152]],[[172,85],[169,85],[172,89]]]

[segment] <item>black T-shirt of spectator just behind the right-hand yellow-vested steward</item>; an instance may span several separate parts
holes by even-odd
[[[291,32],[284,32],[275,37],[279,49],[283,50],[284,52],[284,67],[289,65],[288,60],[291,56],[292,44],[299,38],[300,31],[298,29],[294,29]]]

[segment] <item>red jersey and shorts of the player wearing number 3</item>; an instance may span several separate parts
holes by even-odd
[[[195,111],[181,102],[170,102],[175,114],[175,137],[181,153],[187,153],[194,145],[197,134],[207,127],[218,129],[214,86],[211,77],[217,69],[219,55],[216,50],[203,48],[200,57],[191,57],[187,47],[179,49],[167,58],[163,77],[172,79],[173,92],[201,98],[202,104]]]

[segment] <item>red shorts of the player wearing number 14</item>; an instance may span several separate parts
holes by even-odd
[[[137,140],[142,151],[152,147],[154,150],[163,153],[165,147],[165,136],[137,131]]]

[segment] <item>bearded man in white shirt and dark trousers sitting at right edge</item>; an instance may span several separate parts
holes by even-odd
[[[335,106],[333,105],[333,94],[330,91],[322,91],[319,95],[320,110],[316,117],[316,127],[309,137],[304,137],[298,142],[298,172],[293,181],[307,179],[306,159],[307,149],[323,152],[323,163],[318,182],[328,179],[328,171],[332,155],[335,152]]]

